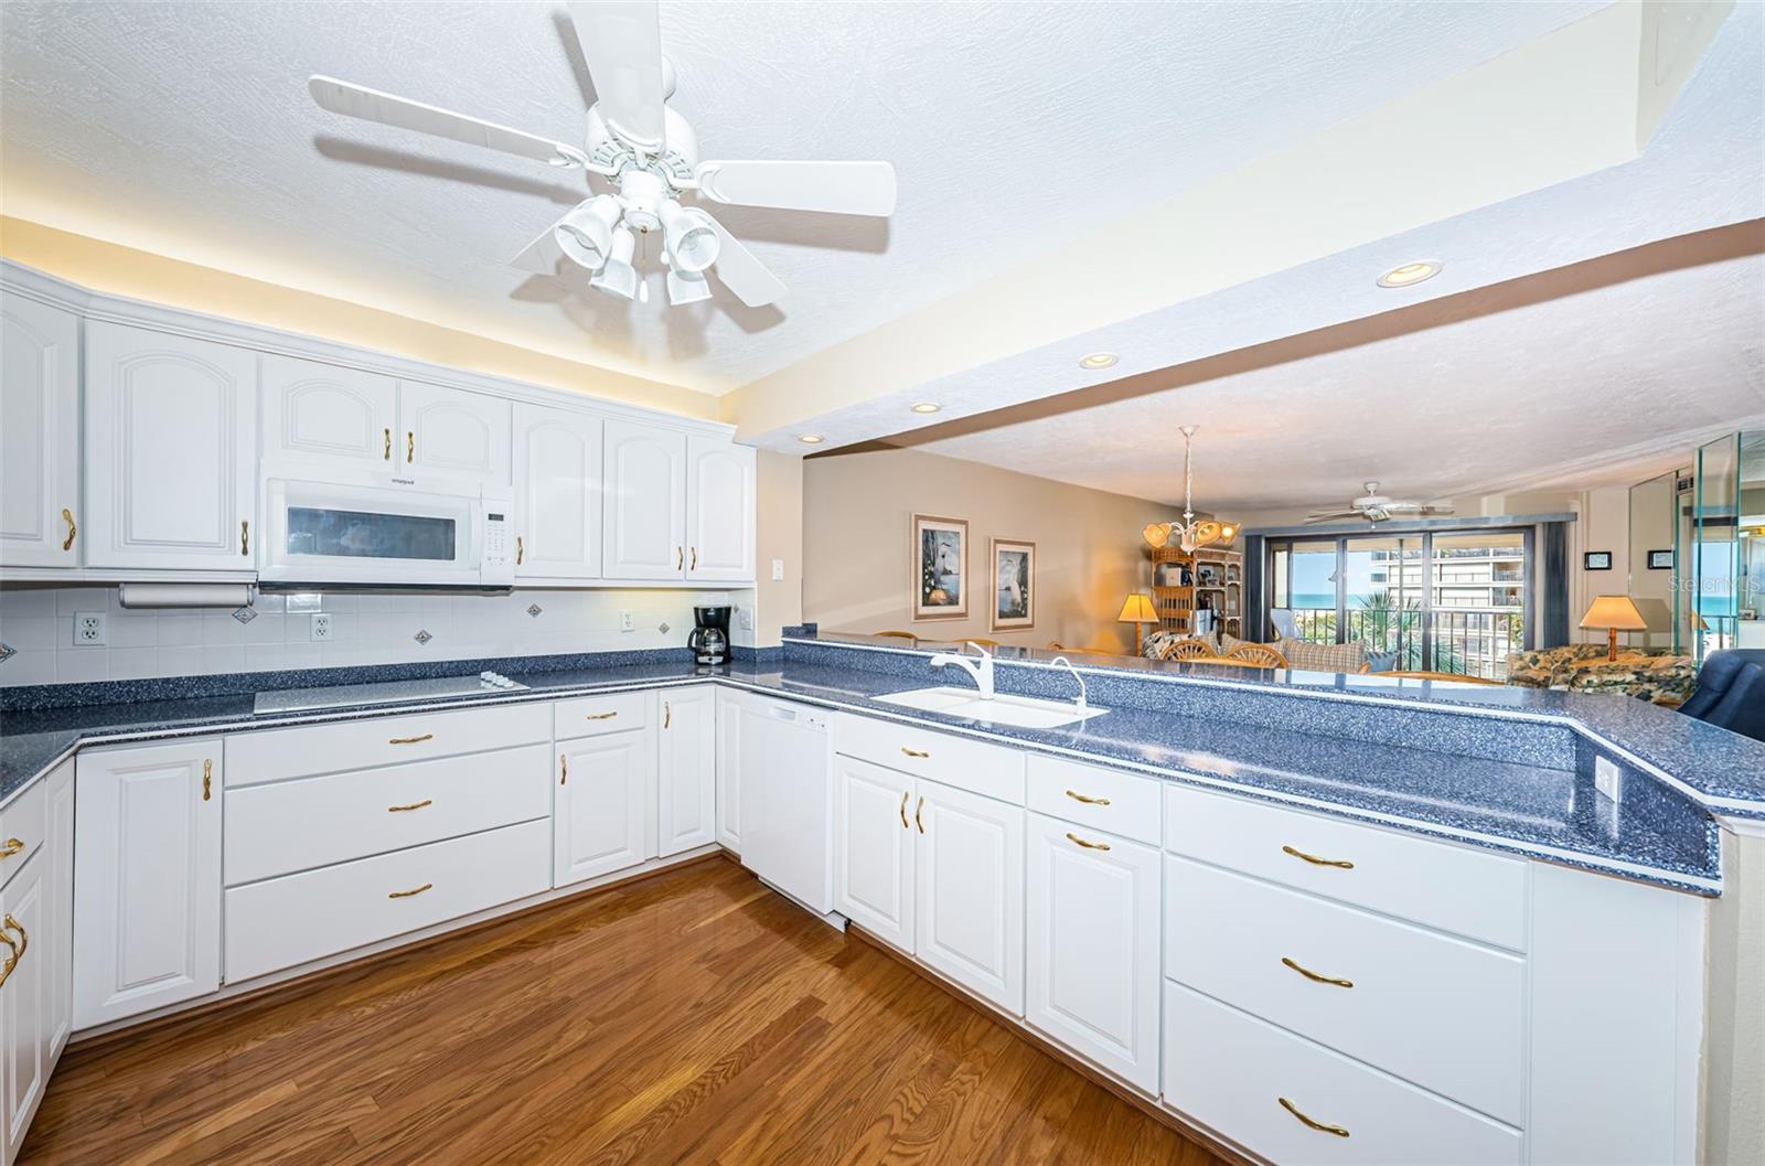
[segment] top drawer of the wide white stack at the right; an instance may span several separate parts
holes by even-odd
[[[1520,859],[1170,783],[1165,848],[1525,949],[1527,864]]]

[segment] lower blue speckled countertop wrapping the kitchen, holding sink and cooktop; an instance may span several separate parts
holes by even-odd
[[[685,654],[644,663],[561,670],[522,672],[505,667],[514,679],[528,684],[530,691],[448,699],[424,702],[418,707],[549,700],[579,691],[655,688],[711,679],[1659,886],[1701,894],[1714,894],[1719,889],[1719,840],[1710,813],[1686,794],[1636,767],[1620,766],[1619,801],[1597,794],[1587,750],[1578,750],[1573,743],[1564,750],[1553,736],[1560,734],[1567,741],[1569,736],[1560,729],[1548,729],[1539,741],[1516,739],[1502,750],[1486,750],[1506,755],[1453,751],[1454,744],[1477,748],[1483,743],[1458,741],[1453,736],[1440,739],[1431,729],[1423,730],[1423,737],[1416,737],[1417,730],[1405,727],[1403,732],[1384,734],[1384,739],[1377,739],[1378,732],[1368,734],[1375,739],[1345,739],[1306,730],[1304,723],[1278,720],[1255,723],[1255,716],[1248,721],[1221,720],[1186,709],[1123,704],[1119,697],[1130,695],[1128,684],[1119,681],[1112,684],[1107,674],[1087,669],[1087,676],[1093,677],[1093,704],[1112,711],[1066,729],[1033,730],[877,704],[875,697],[920,688],[927,679],[902,669],[851,667],[849,661],[856,653],[838,653],[840,663],[819,660],[819,653],[796,654],[800,658],[782,663],[734,663],[710,672],[694,669]],[[913,670],[923,669],[925,660],[907,656],[898,663]],[[1001,669],[1001,677],[1015,672],[1025,670]],[[1050,683],[1071,684],[1071,677],[1064,672],[1048,676],[1063,677]],[[944,679],[937,676],[932,683]],[[965,683],[965,677],[950,677],[950,683]],[[1105,691],[1100,693],[1100,688]],[[1195,690],[1205,693],[1202,686]],[[1112,704],[1107,697],[1117,700]],[[0,801],[79,744],[385,716],[409,707],[413,706],[379,704],[252,716],[252,695],[231,693],[9,711],[4,713],[5,725],[0,734]],[[1437,720],[1447,730],[1456,721],[1472,721],[1479,732],[1500,729],[1498,721],[1483,718]]]

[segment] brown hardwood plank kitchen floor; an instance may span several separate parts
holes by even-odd
[[[718,859],[76,1046],[19,1161],[1220,1159]]]

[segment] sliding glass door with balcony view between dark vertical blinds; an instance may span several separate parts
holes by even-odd
[[[1303,640],[1498,681],[1532,642],[1530,563],[1530,527],[1271,540],[1269,605]]]

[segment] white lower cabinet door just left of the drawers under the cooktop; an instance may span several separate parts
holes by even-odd
[[[221,986],[219,739],[79,755],[74,1028]]]

